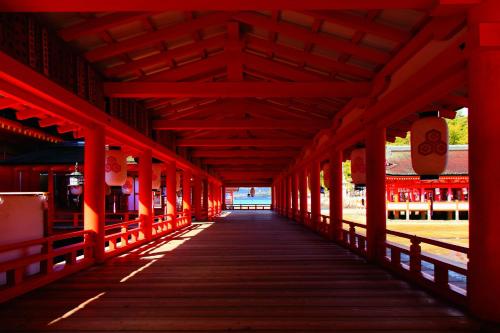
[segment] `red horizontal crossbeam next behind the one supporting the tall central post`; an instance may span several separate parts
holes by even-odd
[[[225,112],[224,108],[220,109]],[[156,130],[272,130],[328,128],[330,124],[318,120],[155,120]]]

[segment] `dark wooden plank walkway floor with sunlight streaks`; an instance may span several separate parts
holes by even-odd
[[[231,212],[0,306],[0,331],[474,332],[478,324],[268,212]]]

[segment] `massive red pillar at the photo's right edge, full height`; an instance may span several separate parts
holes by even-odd
[[[484,0],[470,10],[469,58],[469,276],[471,311],[500,322],[500,3]]]

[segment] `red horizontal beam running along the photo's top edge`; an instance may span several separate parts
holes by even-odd
[[[458,0],[457,0],[458,1]],[[450,2],[450,1],[447,1]],[[461,1],[463,3],[463,0]],[[3,0],[3,12],[117,12],[166,10],[308,10],[308,9],[421,9],[435,0]]]

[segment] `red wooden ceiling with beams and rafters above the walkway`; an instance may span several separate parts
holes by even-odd
[[[228,184],[270,183],[353,98],[372,93],[377,73],[435,5],[385,2],[389,9],[354,1],[360,9],[311,10],[292,1],[294,10],[229,2],[228,11],[205,10],[198,2],[199,10],[164,11],[150,1],[151,11],[132,11],[131,1],[130,11],[38,15],[100,70],[108,96],[141,100],[176,147]]]

